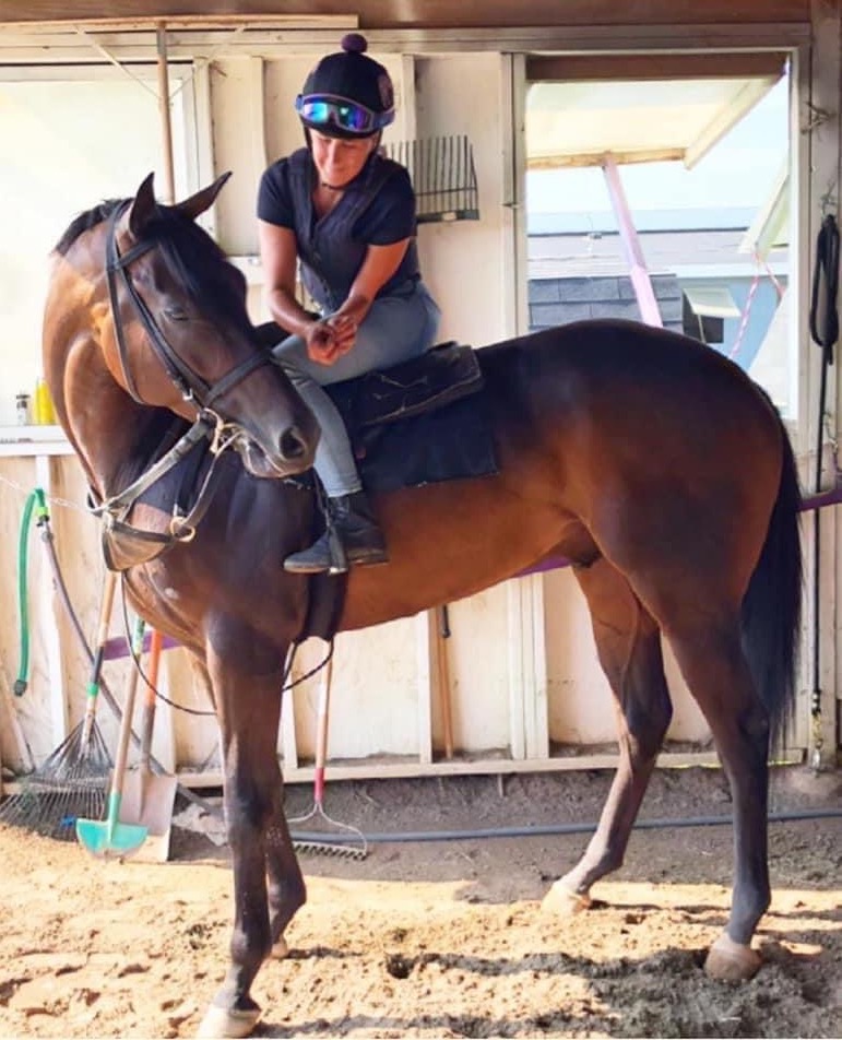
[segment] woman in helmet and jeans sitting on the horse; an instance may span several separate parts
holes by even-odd
[[[383,535],[354,461],[345,426],[321,388],[423,354],[439,309],[420,280],[415,193],[403,166],[380,154],[394,119],[389,73],[349,33],[296,98],[307,147],[273,163],[258,198],[260,255],[275,321],[294,334],[274,355],[321,427],[316,472],[349,564],[382,564]],[[304,284],[321,314],[296,298]],[[295,574],[335,571],[325,531],[293,553]]]

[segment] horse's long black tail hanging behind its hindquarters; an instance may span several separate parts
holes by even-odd
[[[743,600],[743,649],[769,712],[770,747],[785,740],[795,704],[802,614],[802,494],[795,456],[781,423],[783,461],[778,498]]]

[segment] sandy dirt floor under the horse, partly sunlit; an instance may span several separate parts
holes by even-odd
[[[589,824],[603,771],[329,785],[367,832]],[[311,804],[289,790],[289,815]],[[773,812],[842,805],[839,775],[773,778]],[[653,780],[641,816],[730,813],[715,770]],[[180,817],[188,823],[189,816]],[[212,824],[211,818],[205,824]],[[541,911],[586,834],[377,843],[303,858],[290,956],[254,988],[259,1037],[842,1037],[842,818],[775,823],[750,982],[701,964],[730,900],[730,826],[640,829],[572,920]],[[0,827],[0,1037],[190,1037],[226,966],[227,849],[181,826],[171,860],[99,862]]]

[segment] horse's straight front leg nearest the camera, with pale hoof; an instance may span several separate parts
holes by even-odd
[[[266,856],[274,844],[271,834],[281,813],[282,780],[277,765],[277,726],[281,718],[282,669],[276,648],[256,647],[254,639],[235,640],[233,654],[238,664],[209,653],[209,673],[213,683],[220,718],[225,771],[225,820],[234,868],[234,930],[230,965],[199,1030],[200,1037],[246,1037],[258,1018],[260,1007],[251,996],[251,984],[273,944],[266,889]],[[274,666],[260,673],[261,658]],[[244,664],[247,662],[247,664]],[[269,663],[269,662],[266,662]],[[252,671],[253,670],[253,671]],[[256,674],[256,672],[258,674]],[[292,851],[292,850],[290,850]],[[285,912],[303,898],[303,882],[297,870],[290,896],[274,907]],[[275,901],[275,900],[273,900]],[[300,901],[296,903],[300,905]],[[286,913],[286,919],[292,917]]]

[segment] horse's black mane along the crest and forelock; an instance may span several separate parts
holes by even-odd
[[[56,245],[62,256],[84,232],[108,220],[131,200],[108,199],[80,213]],[[143,229],[144,239],[161,249],[173,277],[199,307],[251,329],[246,310],[246,281],[211,236],[177,206],[156,205]]]

